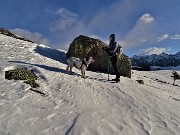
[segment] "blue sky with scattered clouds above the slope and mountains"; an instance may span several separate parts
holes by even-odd
[[[80,34],[107,42],[111,33],[128,56],[180,51],[180,0],[0,0],[0,27],[67,50]]]

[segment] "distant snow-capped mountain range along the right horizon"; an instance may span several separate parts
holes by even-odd
[[[161,67],[167,67],[167,66],[178,66],[180,65],[180,52],[172,55],[168,55],[166,53],[162,54],[152,54],[152,55],[146,55],[146,56],[133,56],[131,58],[132,65],[133,66],[161,66]]]

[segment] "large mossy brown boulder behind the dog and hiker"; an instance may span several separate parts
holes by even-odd
[[[78,57],[82,59],[92,56],[95,62],[91,64],[88,69],[107,73],[109,57],[104,51],[107,47],[107,44],[99,39],[80,35],[70,44],[67,57]],[[114,74],[111,62],[109,63],[110,73]],[[122,54],[118,57],[118,68],[121,76],[131,77],[131,61],[126,55]]]

